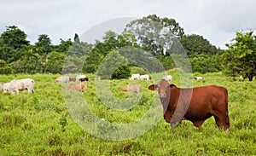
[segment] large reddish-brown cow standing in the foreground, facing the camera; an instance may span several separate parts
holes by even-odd
[[[230,127],[228,91],[224,87],[207,85],[180,89],[162,79],[158,84],[150,85],[148,90],[158,90],[164,118],[171,127],[181,119],[187,119],[201,128],[204,121],[212,116],[218,127],[224,127],[224,130]]]

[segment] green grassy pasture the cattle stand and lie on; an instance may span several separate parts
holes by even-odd
[[[172,75],[172,83],[179,86],[178,74]],[[217,84],[228,89],[229,130],[218,130],[214,118],[207,119],[200,130],[189,121],[183,121],[174,129],[170,129],[169,124],[160,117],[156,118],[156,125],[143,135],[122,140],[119,139],[122,135],[132,136],[142,128],[134,126],[128,130],[128,134],[112,133],[118,136],[108,136],[108,133],[116,128],[106,123],[102,124],[101,118],[117,124],[129,124],[143,118],[155,97],[154,91],[148,90],[148,85],[153,82],[112,80],[109,83],[109,93],[115,99],[124,101],[128,97],[137,98],[131,99],[131,102],[124,102],[124,106],[118,106],[118,101],[109,101],[109,95],[101,92],[103,89],[100,87],[108,84],[107,81],[96,87],[93,75],[89,75],[90,81],[85,82],[88,90],[83,94],[73,90],[62,93],[61,84],[53,83],[58,76],[60,75],[0,76],[0,82],[9,82],[14,78],[33,78],[36,82],[33,95],[26,90],[20,91],[20,95],[0,92],[0,155],[256,154],[255,80],[241,81],[239,78],[226,78],[221,73],[207,73],[202,75],[203,81],[194,81],[194,86]],[[120,89],[131,83],[141,84],[143,92],[139,95],[120,92]],[[83,97],[87,107],[81,104],[77,106],[79,109],[74,111],[75,106],[71,106],[74,102],[69,103],[67,97],[73,97],[71,100],[74,101]],[[102,101],[108,101],[108,106]],[[135,106],[132,105],[132,101],[135,102]],[[125,110],[113,110],[111,107],[125,107]],[[100,119],[96,120],[88,113],[88,108]],[[161,111],[155,113],[155,116]],[[74,120],[74,116],[78,120]],[[96,122],[98,126],[88,132],[84,130],[87,124],[83,124],[83,119]],[[112,141],[112,138],[121,141]]]

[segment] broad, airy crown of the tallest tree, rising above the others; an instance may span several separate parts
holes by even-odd
[[[155,14],[126,25],[125,32],[133,34],[144,49],[160,55],[166,55],[166,49],[172,47],[172,38],[182,38],[183,28],[174,19],[162,18]]]

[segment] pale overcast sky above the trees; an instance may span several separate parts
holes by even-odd
[[[177,20],[185,34],[198,34],[213,45],[235,38],[236,32],[256,30],[255,0],[0,0],[0,33],[18,26],[31,43],[47,34],[52,43],[81,36],[102,22],[156,14]],[[118,25],[118,24],[117,24]]]

